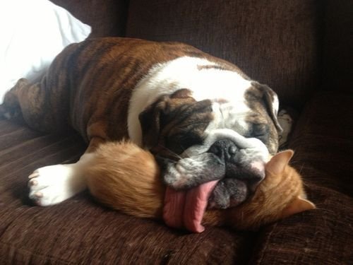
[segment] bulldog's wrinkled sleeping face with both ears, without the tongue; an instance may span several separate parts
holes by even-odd
[[[188,189],[222,179],[209,205],[217,208],[235,206],[253,192],[265,177],[268,153],[277,151],[280,126],[277,95],[251,85],[238,100],[196,101],[190,90],[177,90],[140,114],[143,146],[162,161],[167,185]]]

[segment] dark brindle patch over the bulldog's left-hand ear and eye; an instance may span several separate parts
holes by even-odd
[[[188,89],[162,95],[139,116],[145,148],[169,148],[196,144],[213,119],[210,100],[196,101]]]

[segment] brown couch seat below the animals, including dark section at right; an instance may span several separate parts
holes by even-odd
[[[1,264],[342,264],[353,245],[346,156],[353,148],[352,105],[352,97],[335,93],[318,93],[307,103],[289,147],[318,209],[257,232],[173,230],[104,208],[88,192],[34,206],[27,197],[30,172],[78,160],[85,143],[76,134],[44,135],[0,120]]]

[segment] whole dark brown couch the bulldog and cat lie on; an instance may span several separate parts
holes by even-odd
[[[318,206],[257,232],[190,234],[95,204],[27,199],[37,167],[77,160],[76,134],[0,120],[0,264],[353,264],[351,0],[55,0],[92,36],[177,40],[267,83],[299,119],[293,165]]]

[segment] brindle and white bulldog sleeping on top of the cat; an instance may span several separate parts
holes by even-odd
[[[280,130],[273,90],[227,61],[174,42],[102,38],[70,45],[40,83],[18,81],[1,107],[6,116],[20,110],[41,131],[72,127],[90,143],[78,163],[42,167],[30,175],[30,198],[42,206],[85,189],[81,168],[104,141],[131,139],[162,157],[167,170],[174,160],[189,159],[164,179],[182,189],[237,177],[234,165],[249,164],[260,181],[268,153],[277,151]],[[242,146],[239,136],[260,141]],[[196,164],[200,176],[208,167],[225,169],[198,182],[193,175],[185,179],[186,168]],[[246,183],[251,189],[254,184],[253,179]]]

